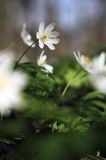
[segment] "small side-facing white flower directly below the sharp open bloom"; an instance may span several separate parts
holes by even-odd
[[[41,52],[39,58],[37,59],[37,64],[44,69],[42,71],[45,71],[46,73],[53,73],[53,66],[47,64],[47,56],[44,55],[44,50]]]

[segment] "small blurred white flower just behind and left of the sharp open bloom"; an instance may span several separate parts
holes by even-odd
[[[32,40],[31,34],[26,30],[26,24],[23,25],[21,38],[23,42],[28,46],[31,46],[34,43],[34,41]],[[33,44],[31,47],[35,47],[35,44]]]

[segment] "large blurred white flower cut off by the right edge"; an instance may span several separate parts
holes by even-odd
[[[106,53],[102,52],[98,57],[93,59],[94,73],[90,74],[92,85],[101,93],[106,94]]]

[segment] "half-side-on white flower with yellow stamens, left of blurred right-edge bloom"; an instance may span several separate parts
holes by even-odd
[[[73,52],[77,62],[89,73],[92,73],[92,60],[86,56],[84,56],[83,54],[81,54],[80,51]]]

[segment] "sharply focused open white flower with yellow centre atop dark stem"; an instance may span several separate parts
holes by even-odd
[[[53,31],[54,27],[55,24],[52,23],[44,29],[44,23],[40,23],[39,31],[36,34],[40,48],[44,48],[44,45],[47,45],[51,50],[55,49],[54,44],[58,44],[60,40],[57,38],[59,33]]]

